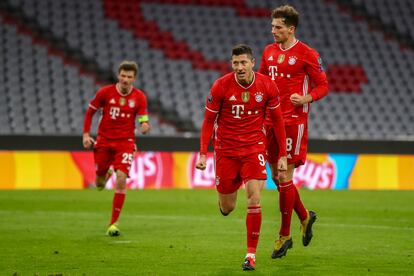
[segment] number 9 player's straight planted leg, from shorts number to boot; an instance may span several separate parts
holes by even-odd
[[[260,194],[264,187],[266,175],[266,158],[264,152],[251,154],[243,158],[241,176],[246,186],[246,241],[247,253],[242,265],[243,270],[255,269],[256,249],[262,225]]]

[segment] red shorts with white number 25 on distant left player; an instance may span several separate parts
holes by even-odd
[[[93,147],[96,175],[105,175],[111,165],[115,171],[121,170],[128,175],[135,151],[133,139],[108,140],[98,137]]]

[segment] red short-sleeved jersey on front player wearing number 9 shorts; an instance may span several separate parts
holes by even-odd
[[[279,91],[267,76],[254,73],[253,82],[247,87],[237,82],[235,73],[218,79],[206,101],[206,112],[218,113],[215,151],[231,156],[264,151],[266,109],[278,105]]]

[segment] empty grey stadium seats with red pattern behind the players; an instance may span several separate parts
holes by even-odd
[[[375,1],[353,1],[361,2],[372,12],[382,10],[371,7],[377,5]],[[115,73],[121,60],[137,60],[140,64],[137,85],[146,91],[149,101],[159,107],[161,114],[175,114],[178,121],[190,121],[195,131],[201,128],[205,97],[213,81],[230,70],[225,64],[229,65],[231,48],[237,43],[251,45],[259,63],[262,49],[272,42],[270,18],[265,11],[270,14],[272,8],[284,3],[253,0],[188,1],[191,4],[182,0],[8,2],[71,48],[96,60],[102,69]],[[312,105],[310,137],[412,138],[413,51],[401,50],[397,42],[386,39],[379,31],[372,31],[364,20],[356,21],[352,15],[340,11],[334,1],[292,0],[290,3],[301,12],[297,37],[319,51],[331,83],[330,95]],[[412,8],[412,4],[408,6]],[[411,22],[412,19],[404,20]],[[2,34],[16,33],[13,26],[2,25]],[[8,39],[3,38],[3,41]],[[93,95],[94,80],[58,57],[48,55],[44,48],[31,44],[30,39],[10,39],[12,42],[7,43],[13,45],[2,44],[2,58],[15,55],[16,59],[0,65],[3,67],[0,70],[5,72],[4,86],[9,91],[16,82],[20,83],[22,70],[10,69],[17,66],[27,67],[24,75],[35,72],[33,77],[26,77],[24,83],[39,88],[35,93],[30,90],[7,92],[7,107],[1,103],[0,114],[19,113],[23,118],[11,120],[2,131],[80,131],[84,109],[79,107],[85,106]],[[6,50],[16,43],[20,48]],[[33,65],[23,66],[19,58],[22,55],[31,55],[33,61],[28,63]],[[37,66],[44,65],[49,74],[42,78],[37,76],[36,70]],[[18,80],[14,74],[18,75]],[[43,93],[49,97],[44,97]],[[69,104],[58,109],[62,98]],[[20,101],[24,103],[23,110],[13,105]],[[37,109],[26,108],[34,102]],[[45,110],[41,110],[43,105],[47,106]],[[38,119],[30,114],[37,114]],[[45,119],[43,114],[53,114],[53,120]],[[63,114],[69,116],[61,118]],[[44,120],[53,123],[46,124]],[[29,129],[29,125],[35,127]],[[51,129],[46,130],[44,125]],[[161,134],[176,133],[171,130],[173,128],[160,128],[163,129]]]

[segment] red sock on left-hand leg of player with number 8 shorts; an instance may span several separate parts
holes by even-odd
[[[292,219],[292,210],[295,205],[296,188],[292,181],[279,183],[279,209],[282,215],[282,224],[279,235],[290,235],[290,221]]]

